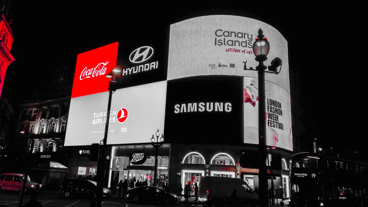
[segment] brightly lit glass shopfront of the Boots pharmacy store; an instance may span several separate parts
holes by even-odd
[[[130,162],[130,155],[134,152],[144,152],[147,156],[146,161],[140,165]],[[128,180],[128,187],[131,181],[134,186],[137,182],[147,182],[148,186],[153,186],[155,176],[155,153],[156,148],[152,145],[135,146],[113,146],[109,172],[109,187],[113,182]],[[158,167],[157,182],[159,187],[168,183],[169,174],[169,155],[170,145],[163,144],[158,148]]]

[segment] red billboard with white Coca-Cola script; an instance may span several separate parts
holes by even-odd
[[[106,78],[116,66],[118,42],[78,55],[71,98],[108,91]]]

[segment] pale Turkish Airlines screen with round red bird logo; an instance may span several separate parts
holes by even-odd
[[[71,99],[65,146],[100,143],[107,121],[107,144],[147,143],[157,129],[164,132],[166,81],[116,90],[109,120],[108,97],[103,92]]]

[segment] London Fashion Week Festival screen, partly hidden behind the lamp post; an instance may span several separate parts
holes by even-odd
[[[258,79],[244,77],[244,142],[258,144]],[[266,81],[267,145],[293,150],[290,94]]]

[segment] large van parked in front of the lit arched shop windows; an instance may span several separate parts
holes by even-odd
[[[239,178],[225,178],[214,176],[203,176],[199,184],[199,201],[210,200],[218,202],[230,201],[231,193],[237,189],[238,202],[245,205],[256,206],[259,196],[244,180]]]

